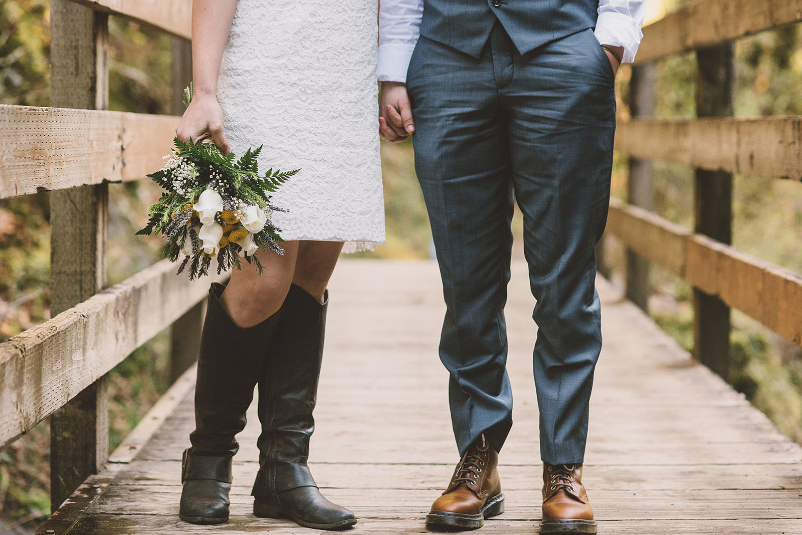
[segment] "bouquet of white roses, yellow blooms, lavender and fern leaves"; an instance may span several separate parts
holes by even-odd
[[[192,99],[192,89],[185,91],[185,103]],[[178,272],[189,266],[189,278],[209,274],[217,257],[217,273],[241,267],[241,259],[255,263],[259,274],[263,267],[255,253],[263,249],[283,255],[278,242],[280,229],[270,215],[284,211],[270,203],[270,193],[277,190],[299,170],[273,171],[259,175],[257,158],[261,147],[245,151],[235,161],[213,143],[192,139],[173,140],[176,148],[164,156],[164,167],[148,178],[166,191],[150,207],[148,225],[137,232],[164,236],[164,258],[181,259]]]

